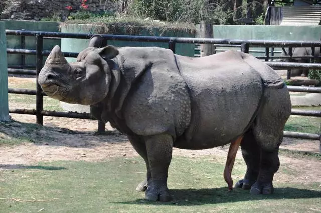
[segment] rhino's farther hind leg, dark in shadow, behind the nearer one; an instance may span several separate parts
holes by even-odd
[[[244,138],[241,142],[241,150],[247,169],[244,179],[236,182],[234,188],[249,190],[257,180],[261,156],[260,147],[254,139],[252,130],[249,130],[244,134]]]

